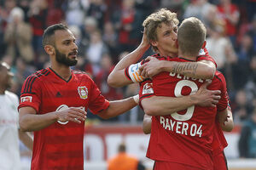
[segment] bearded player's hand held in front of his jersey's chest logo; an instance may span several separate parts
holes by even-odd
[[[83,111],[80,108],[70,107],[64,111],[57,111],[57,121],[59,122],[77,122],[81,123],[84,122],[86,119],[86,111]]]

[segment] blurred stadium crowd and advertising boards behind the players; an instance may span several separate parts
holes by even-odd
[[[43,31],[62,22],[77,37],[79,64],[74,69],[88,72],[107,99],[137,94],[137,84],[114,89],[106,81],[113,65],[137,47],[143,20],[158,8],[171,9],[180,21],[195,16],[207,26],[207,48],[226,77],[236,125],[225,133],[230,169],[256,169],[255,158],[246,158],[239,144],[241,128],[256,107],[255,0],[0,0],[0,58],[15,73],[10,90],[20,95],[26,77],[49,65],[41,45]],[[144,57],[149,54],[151,50]],[[84,167],[106,169],[106,160],[122,141],[129,153],[151,167],[145,158],[149,136],[142,133],[142,120],[138,107],[108,121],[89,113]],[[20,149],[27,169],[30,153],[22,144]]]

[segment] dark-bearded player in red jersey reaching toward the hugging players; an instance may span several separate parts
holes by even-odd
[[[71,70],[78,47],[67,26],[49,26],[43,45],[50,66],[26,78],[18,107],[20,129],[34,131],[31,168],[84,169],[86,111],[107,119],[130,110],[138,99],[108,101],[86,73]]]

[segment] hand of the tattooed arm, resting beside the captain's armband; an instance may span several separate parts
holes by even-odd
[[[148,62],[144,65],[141,65],[139,68],[139,74],[146,78],[152,78],[158,73],[160,73],[160,66],[162,65],[159,59],[148,56]]]

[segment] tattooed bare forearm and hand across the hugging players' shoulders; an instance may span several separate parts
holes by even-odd
[[[148,63],[140,67],[141,76],[154,77],[162,71],[175,72],[186,77],[212,79],[216,71],[216,66],[212,61],[201,60],[197,62],[176,62],[155,59],[148,57]]]

